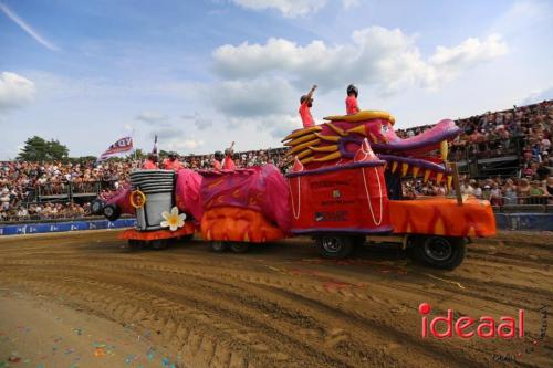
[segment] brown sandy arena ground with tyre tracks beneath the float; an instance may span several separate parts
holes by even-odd
[[[0,239],[0,367],[553,367],[552,233],[479,240],[452,272],[382,245],[337,262],[307,239],[219,254],[116,235]],[[431,317],[523,308],[525,336],[422,338],[422,302]]]

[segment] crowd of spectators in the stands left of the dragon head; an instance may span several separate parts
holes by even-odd
[[[284,148],[237,153],[234,164],[244,168],[268,162],[284,167],[288,164],[284,153]],[[209,169],[213,155],[184,156],[179,159],[184,167]],[[0,162],[0,221],[88,215],[88,201],[79,204],[61,194],[67,193],[71,188],[72,194],[100,193],[100,197],[106,198],[128,180],[132,169],[140,166],[142,160],[136,159],[107,160],[98,165],[94,161]],[[52,202],[34,203],[32,199],[36,197],[51,198]]]

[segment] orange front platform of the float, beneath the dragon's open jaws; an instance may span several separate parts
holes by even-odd
[[[389,212],[394,233],[495,235],[495,217],[490,202],[476,198],[465,199],[462,206],[445,197],[389,201]]]

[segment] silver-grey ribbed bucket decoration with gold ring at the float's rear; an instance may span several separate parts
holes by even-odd
[[[136,208],[138,230],[159,230],[164,211],[175,206],[175,171],[135,170],[131,172],[133,192],[131,200]]]

